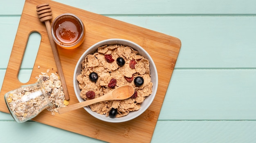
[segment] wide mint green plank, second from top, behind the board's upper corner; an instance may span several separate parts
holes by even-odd
[[[184,16],[137,17],[111,16],[117,20],[179,37],[182,41],[175,68],[254,68],[256,67],[256,17],[254,16]],[[0,49],[0,67],[7,61],[16,32],[17,19],[11,24],[0,18],[0,28],[11,31]],[[9,26],[10,25],[10,26]],[[5,27],[5,28],[3,28]],[[209,28],[211,27],[211,28]],[[214,30],[213,30],[214,29]],[[4,35],[4,33],[0,35]],[[7,32],[8,33],[8,32]],[[224,33],[224,34],[223,34]],[[211,43],[209,43],[211,39]],[[234,42],[235,41],[235,42]],[[34,45],[34,43],[33,43]],[[204,60],[202,60],[204,59]],[[26,63],[25,63],[26,64]],[[25,65],[28,68],[28,65]]]

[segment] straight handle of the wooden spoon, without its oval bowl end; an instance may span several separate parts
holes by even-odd
[[[111,96],[112,96],[112,92],[109,92],[109,93],[107,93],[104,96],[101,96],[99,98],[94,98],[94,99],[91,99],[91,100],[86,100],[86,101],[83,101],[83,102],[80,102],[80,103],[76,103],[76,104],[72,104],[72,105],[69,105],[69,106],[66,106],[66,107],[62,107],[62,108],[58,109],[58,113],[63,114],[63,113],[73,111],[73,110],[76,110],[76,109],[79,109],[79,108],[82,108],[82,107],[85,107],[85,106],[88,106],[88,105],[91,105],[91,104],[94,104],[94,103],[97,103],[97,102],[111,100],[110,99]]]

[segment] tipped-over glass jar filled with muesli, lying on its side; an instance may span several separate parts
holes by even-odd
[[[28,121],[45,108],[53,106],[45,93],[41,80],[7,92],[4,95],[4,100],[11,116],[18,123]]]

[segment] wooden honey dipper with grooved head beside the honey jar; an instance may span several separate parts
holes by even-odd
[[[58,74],[59,74],[60,79],[61,79],[61,85],[62,85],[62,88],[63,88],[63,92],[65,94],[65,100],[69,100],[70,98],[69,98],[69,95],[68,95],[67,85],[66,85],[66,82],[65,82],[63,71],[62,71],[62,68],[61,68],[61,62],[60,62],[60,59],[59,59],[59,56],[58,56],[58,51],[57,51],[56,45],[55,45],[55,43],[52,39],[52,34],[51,34],[50,20],[52,20],[52,9],[49,6],[49,4],[47,4],[47,3],[39,4],[38,6],[36,6],[36,12],[37,12],[37,15],[38,15],[38,18],[39,18],[40,22],[45,22],[45,26],[46,26],[47,33],[48,33],[48,36],[49,36],[49,40],[50,40],[50,43],[51,43],[51,46],[52,46],[52,52],[54,54],[54,60],[55,60],[56,66],[57,66]]]

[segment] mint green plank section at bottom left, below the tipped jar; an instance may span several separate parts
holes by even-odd
[[[17,124],[15,121],[0,121],[0,126],[1,128],[4,128],[4,130],[0,130],[2,143],[58,143],[63,141],[69,143],[74,141],[76,143],[105,143],[104,141],[86,137],[73,132],[68,132],[34,121],[27,121],[22,124]],[[15,137],[13,137],[13,135]],[[38,137],[40,137],[40,139],[38,139]]]

